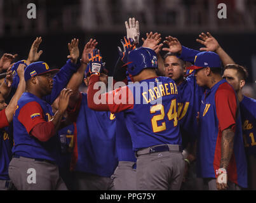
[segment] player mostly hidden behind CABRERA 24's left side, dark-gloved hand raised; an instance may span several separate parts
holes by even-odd
[[[135,20],[135,18],[133,18]],[[135,23],[133,23],[135,24]],[[130,27],[132,25],[130,24]],[[129,28],[129,27],[128,27]],[[137,32],[136,32],[137,33]],[[128,35],[127,35],[128,36]],[[136,38],[136,37],[134,37]],[[123,81],[128,84],[130,77],[127,74],[126,55],[134,48],[133,38],[129,40],[124,37],[123,49],[118,47],[119,60],[114,69],[114,82]],[[131,136],[126,127],[125,114],[119,112],[116,115],[116,151],[118,155],[118,167],[112,175],[112,190],[136,190],[136,162],[135,152],[133,151]]]

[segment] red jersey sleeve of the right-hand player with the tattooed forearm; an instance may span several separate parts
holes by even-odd
[[[237,101],[236,94],[226,86],[219,88],[215,94],[216,112],[219,119],[220,131],[236,124]]]

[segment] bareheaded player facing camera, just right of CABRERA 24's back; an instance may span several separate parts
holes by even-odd
[[[178,110],[178,117],[180,121],[180,129],[182,133],[182,145],[185,148],[184,158],[186,166],[196,159],[195,155],[192,155],[191,146],[194,145],[196,136],[198,134],[198,123],[196,121],[196,115],[199,112],[199,104],[201,96],[203,95],[203,88],[198,87],[194,75],[184,77],[185,75],[185,62],[180,58],[177,58],[175,53],[167,53],[164,57],[165,61],[165,76],[170,77],[176,82],[180,103]],[[193,119],[194,118],[194,119]],[[187,150],[190,152],[188,154]],[[195,164],[192,164],[191,170],[195,169]],[[191,173],[193,173],[191,171]],[[182,184],[182,188],[189,187],[191,190],[197,190],[201,188],[201,180],[189,177],[187,183]],[[196,182],[195,182],[196,181]]]

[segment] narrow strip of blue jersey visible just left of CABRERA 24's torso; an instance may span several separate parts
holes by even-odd
[[[116,151],[119,161],[137,162],[133,151],[131,136],[126,128],[125,114],[119,112],[116,115]]]

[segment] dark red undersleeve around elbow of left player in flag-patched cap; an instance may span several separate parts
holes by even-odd
[[[53,122],[41,122],[37,124],[30,132],[39,141],[48,141],[55,135],[55,126]]]

